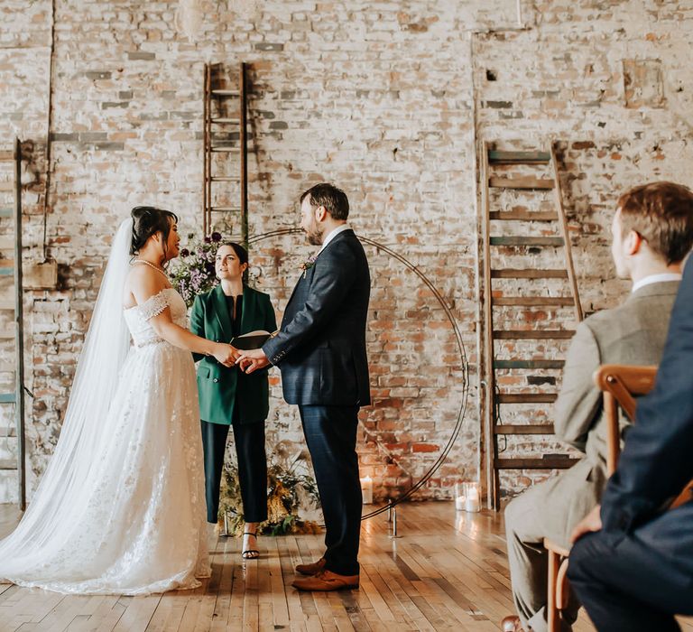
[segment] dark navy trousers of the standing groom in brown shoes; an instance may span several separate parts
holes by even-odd
[[[363,502],[356,456],[358,406],[300,405],[299,412],[325,517],[325,568],[357,575]]]

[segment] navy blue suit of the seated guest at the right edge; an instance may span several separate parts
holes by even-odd
[[[654,389],[602,497],[603,528],[570,553],[568,578],[597,629],[678,630],[693,614],[693,502],[665,511],[693,478],[693,265],[679,286]]]

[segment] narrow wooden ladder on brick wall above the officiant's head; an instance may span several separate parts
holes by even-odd
[[[217,218],[224,228],[248,245],[247,69],[239,64],[237,88],[224,87],[222,64],[205,64],[204,176],[202,187],[204,234]],[[236,105],[229,103],[236,101]],[[232,160],[236,159],[236,160]],[[234,188],[237,187],[237,192]],[[236,198],[236,201],[229,202]],[[226,200],[217,203],[217,200]],[[239,221],[236,221],[238,218]],[[240,225],[240,226],[239,226]]]

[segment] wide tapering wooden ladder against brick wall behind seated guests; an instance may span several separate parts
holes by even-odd
[[[489,500],[498,510],[501,500],[500,472],[504,469],[564,469],[575,459],[567,454],[545,454],[541,458],[521,456],[503,457],[499,450],[499,437],[504,441],[514,435],[550,435],[552,423],[504,423],[504,417],[522,419],[535,404],[544,404],[544,414],[557,397],[556,378],[546,376],[527,376],[527,371],[546,371],[560,369],[564,360],[558,359],[559,346],[575,333],[572,329],[552,327],[538,329],[534,319],[527,319],[522,312],[526,310],[559,311],[572,308],[575,321],[582,320],[582,308],[577,293],[577,281],[570,251],[568,226],[563,209],[556,153],[551,145],[549,152],[510,152],[496,151],[484,144],[481,162],[482,192],[482,242],[484,288],[481,293],[484,313],[484,378],[485,378],[485,462],[489,488]],[[500,169],[494,170],[495,167]],[[543,173],[538,177],[537,168]],[[522,171],[519,177],[508,177],[506,171]],[[500,171],[495,173],[493,171]],[[550,177],[546,172],[550,171]],[[530,172],[527,175],[526,172]],[[553,190],[555,203],[550,210],[519,207],[510,210],[491,209],[491,189],[513,190],[541,193]],[[541,227],[541,235],[518,235],[513,227],[522,227],[522,232],[530,232]],[[547,233],[552,233],[547,235]],[[558,233],[558,234],[556,234]],[[501,267],[498,262],[498,249],[503,248],[515,259],[522,257],[522,267]],[[531,267],[527,264],[528,253],[541,254],[545,248],[560,249],[563,252],[559,267]],[[558,291],[549,293],[546,288],[537,287],[547,279],[556,283]],[[499,281],[506,280],[506,281]],[[498,285],[513,283],[507,288]],[[504,318],[501,318],[504,316]],[[503,321],[502,324],[497,324]],[[523,341],[523,342],[519,342]],[[561,342],[562,341],[562,342]],[[515,347],[525,349],[518,357]],[[532,345],[531,352],[527,347]],[[510,356],[510,357],[508,357]],[[502,376],[498,372],[503,372]],[[524,372],[524,373],[522,373]],[[517,383],[525,383],[517,389]],[[516,387],[515,390],[509,386]],[[544,382],[544,384],[542,384]],[[547,390],[546,384],[553,386]],[[553,385],[551,385],[553,382]],[[534,416],[531,414],[531,416]]]

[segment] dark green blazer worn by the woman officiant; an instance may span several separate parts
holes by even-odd
[[[276,329],[269,294],[244,285],[240,332]],[[221,285],[196,297],[190,313],[190,330],[208,340],[231,341],[231,318]],[[204,421],[229,425],[238,406],[240,423],[264,422],[270,408],[266,370],[248,376],[237,367],[219,364],[213,357],[192,355],[196,361],[201,360],[198,366],[199,416]]]

